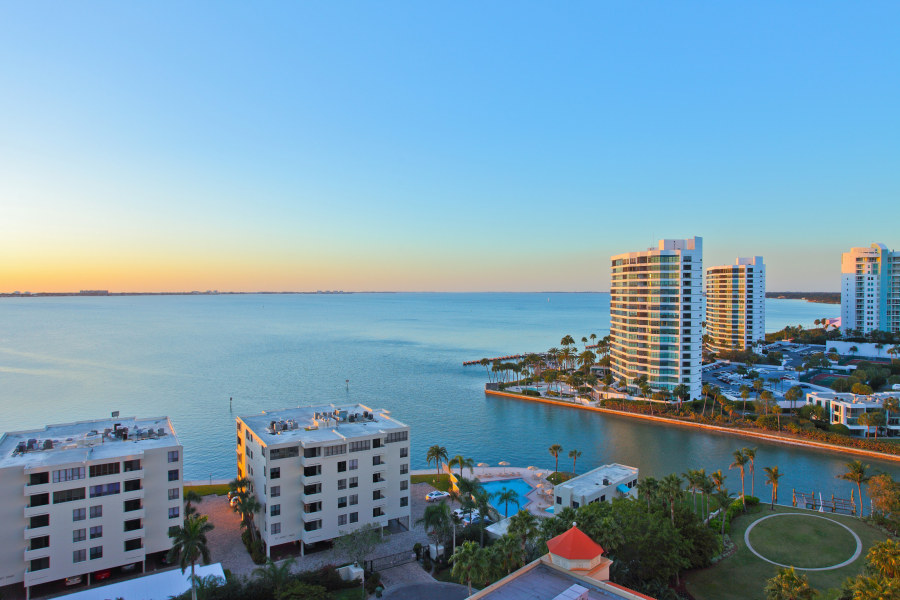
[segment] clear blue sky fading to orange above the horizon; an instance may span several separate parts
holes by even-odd
[[[896,2],[0,2],[0,292],[768,288],[900,248]]]

